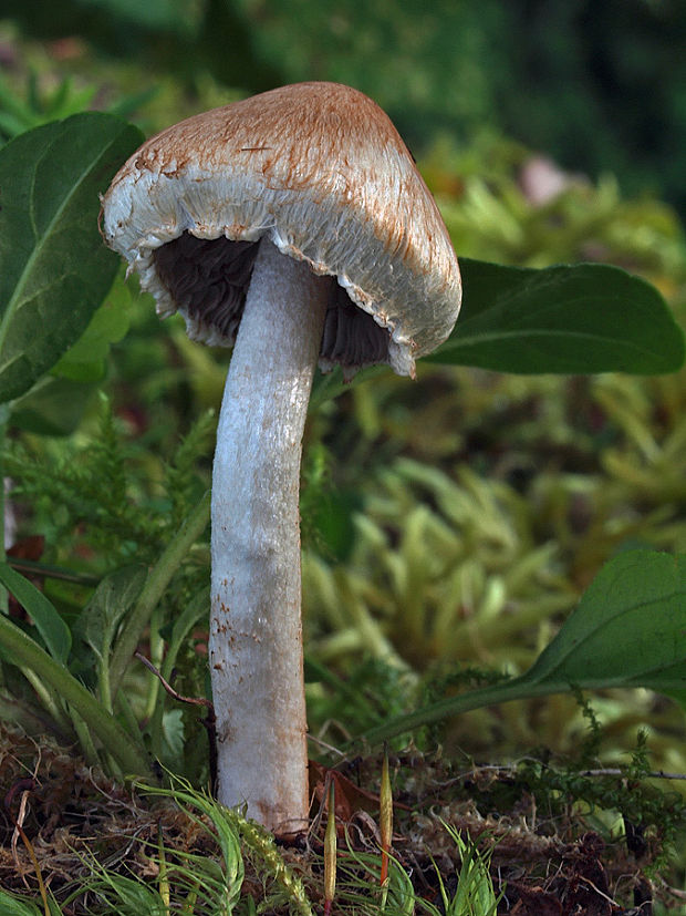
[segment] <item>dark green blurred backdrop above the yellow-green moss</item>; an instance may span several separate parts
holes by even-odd
[[[147,84],[350,83],[419,153],[438,131],[490,125],[686,206],[682,0],[3,0],[0,17],[37,38],[82,37],[103,60],[137,59]]]

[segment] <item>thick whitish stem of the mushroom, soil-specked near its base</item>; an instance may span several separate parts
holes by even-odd
[[[218,799],[279,833],[308,823],[300,456],[330,284],[260,243],[212,476]]]

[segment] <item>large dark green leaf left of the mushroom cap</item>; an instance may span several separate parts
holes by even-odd
[[[90,112],[0,150],[0,403],[54,366],[112,286],[118,258],[100,237],[98,193],[141,140]]]

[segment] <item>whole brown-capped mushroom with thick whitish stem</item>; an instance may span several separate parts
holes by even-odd
[[[299,485],[315,367],[349,379],[449,335],[457,258],[387,115],[334,83],[283,86],[147,141],[103,235],[193,339],[233,346],[217,430],[209,662],[220,802],[308,823]]]

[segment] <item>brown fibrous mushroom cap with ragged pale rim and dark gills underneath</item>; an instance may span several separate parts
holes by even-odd
[[[372,322],[342,356],[323,343],[324,369],[386,361],[414,374],[457,319],[459,268],[434,198],[388,116],[349,86],[299,83],[181,121],[131,156],[102,204],[106,243],[158,312],[181,311],[211,344],[233,342],[254,257],[254,246],[229,253],[212,239],[267,237],[335,277],[346,296],[334,294],[332,310],[350,299],[386,329],[381,353]],[[235,299],[230,315],[222,297]],[[350,325],[351,311],[331,321]],[[328,328],[325,341],[329,316]]]

